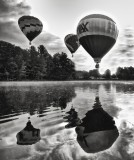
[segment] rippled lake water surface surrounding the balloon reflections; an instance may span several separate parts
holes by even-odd
[[[96,97],[113,117],[119,136],[110,148],[86,153],[77,141],[75,127],[65,127],[70,123],[67,112],[73,106],[83,119],[93,109]],[[40,129],[41,139],[32,145],[18,145],[16,135],[28,117]],[[134,82],[0,83],[0,160],[133,159]]]

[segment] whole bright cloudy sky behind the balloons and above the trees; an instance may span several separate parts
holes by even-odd
[[[64,44],[67,34],[76,34],[81,18],[98,13],[111,17],[117,24],[119,36],[114,47],[103,57],[100,73],[117,67],[134,66],[134,2],[133,0],[0,0],[0,40],[8,41],[22,48],[29,42],[18,27],[18,19],[23,15],[39,18],[43,23],[42,33],[33,40],[33,45],[44,45],[51,55],[67,53],[77,70],[95,69],[92,57],[78,48],[74,57]],[[129,32],[131,36],[127,37]]]

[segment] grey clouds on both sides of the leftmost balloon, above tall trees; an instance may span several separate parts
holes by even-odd
[[[1,0],[0,1],[0,39],[29,48],[29,41],[18,26],[18,19],[22,15],[29,15],[31,11],[25,0]],[[43,44],[50,54],[66,52],[64,42],[51,33],[42,32],[32,42],[33,45]]]

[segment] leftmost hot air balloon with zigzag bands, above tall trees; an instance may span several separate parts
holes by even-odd
[[[42,22],[33,16],[22,16],[18,20],[18,25],[24,35],[31,41],[37,37],[43,29]]]

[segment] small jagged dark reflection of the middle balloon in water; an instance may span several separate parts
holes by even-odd
[[[67,113],[69,115],[65,116],[64,119],[67,119],[67,122],[69,123],[65,126],[65,128],[73,128],[81,124],[81,120],[78,117],[78,113],[75,111],[73,106]]]

